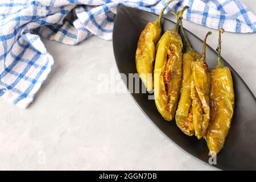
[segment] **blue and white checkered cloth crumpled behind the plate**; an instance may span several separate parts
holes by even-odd
[[[53,65],[39,35],[75,45],[91,35],[112,39],[117,6],[159,14],[168,0],[2,0],[0,2],[0,97],[26,108]],[[180,0],[166,9],[188,5],[184,19],[230,32],[255,32],[256,16],[238,0]],[[74,78],[75,79],[75,78]]]

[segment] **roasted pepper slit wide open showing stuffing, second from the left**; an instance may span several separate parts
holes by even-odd
[[[178,14],[182,14],[185,9],[187,7]],[[183,43],[178,32],[179,17],[177,14],[175,16],[176,25],[166,31],[158,42],[154,69],[155,105],[167,121],[171,121],[175,115],[182,75]]]

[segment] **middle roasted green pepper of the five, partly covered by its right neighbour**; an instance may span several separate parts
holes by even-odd
[[[188,7],[189,8],[189,7]],[[191,94],[191,64],[197,59],[201,58],[201,55],[196,52],[189,42],[187,35],[184,32],[182,17],[179,19],[181,35],[185,41],[185,52],[183,53],[182,61],[182,86],[180,93],[180,100],[177,106],[175,120],[177,126],[183,133],[192,136],[195,134],[193,126],[193,112],[192,112],[192,101],[190,98]]]

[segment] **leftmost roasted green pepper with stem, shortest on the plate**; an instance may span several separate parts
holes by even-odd
[[[173,0],[171,0],[173,1]],[[153,89],[153,62],[155,60],[155,46],[161,36],[163,11],[171,1],[166,3],[155,22],[148,22],[139,37],[135,62],[137,72],[148,91]]]

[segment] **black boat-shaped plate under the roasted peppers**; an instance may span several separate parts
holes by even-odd
[[[137,73],[135,66],[135,51],[139,35],[147,22],[154,21],[157,15],[131,7],[119,6],[115,17],[113,32],[114,56],[120,73],[127,77],[129,73]],[[174,23],[163,19],[163,31],[174,27]],[[201,52],[202,40],[186,31],[193,48]],[[205,32],[206,33],[206,32]],[[236,35],[234,35],[236,36]],[[216,40],[217,41],[217,40]],[[207,46],[207,63],[213,68],[217,53]],[[220,169],[256,169],[256,99],[242,78],[226,62],[232,72],[236,106],[225,147],[217,155],[217,165]],[[127,88],[128,84],[126,83]],[[143,85],[143,84],[142,84]],[[167,122],[158,113],[154,100],[148,100],[148,93],[134,93],[130,90],[135,102],[166,137],[189,154],[208,163],[209,155],[204,139],[188,137],[176,126],[176,122]]]

